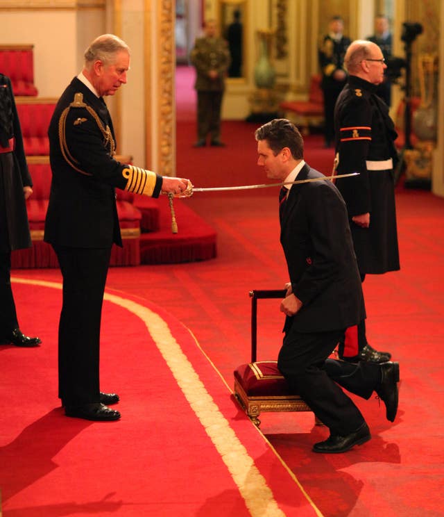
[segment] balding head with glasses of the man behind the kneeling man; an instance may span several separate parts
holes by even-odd
[[[355,40],[345,52],[345,67],[350,75],[355,75],[373,84],[384,80],[384,56],[376,43]]]

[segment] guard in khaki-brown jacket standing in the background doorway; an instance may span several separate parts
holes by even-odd
[[[196,68],[197,141],[194,147],[204,147],[209,135],[210,145],[221,147],[221,107],[230,51],[225,40],[216,38],[214,21],[205,23],[205,36],[196,39],[190,59]]]

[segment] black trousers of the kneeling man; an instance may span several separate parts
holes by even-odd
[[[356,431],[364,417],[338,384],[368,399],[380,380],[377,364],[327,360],[343,332],[305,334],[289,329],[278,358],[278,367],[292,391],[302,397],[332,434],[341,436]]]

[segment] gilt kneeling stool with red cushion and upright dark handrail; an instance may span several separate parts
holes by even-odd
[[[251,362],[234,370],[234,396],[248,417],[259,427],[259,414],[264,411],[311,411],[299,395],[291,393],[278,361],[257,361],[257,299],[283,298],[284,290],[252,290],[251,297]],[[316,424],[320,424],[315,419]]]

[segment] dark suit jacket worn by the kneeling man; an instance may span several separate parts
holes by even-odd
[[[323,177],[307,164],[299,179]],[[366,317],[347,208],[330,181],[293,185],[284,204],[280,242],[293,293],[302,308],[287,317],[300,332],[345,329]]]

